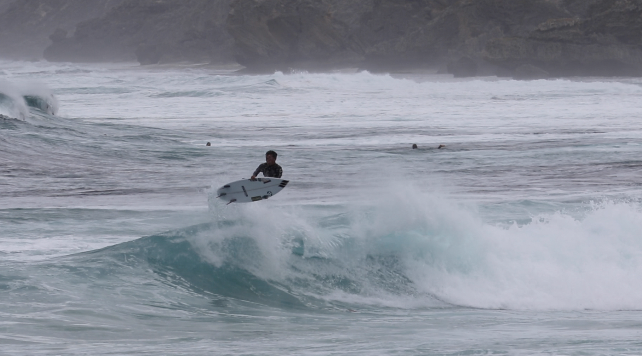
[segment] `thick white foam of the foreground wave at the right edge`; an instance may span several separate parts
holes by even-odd
[[[561,212],[526,225],[471,226],[483,248],[468,271],[412,260],[418,288],[455,305],[484,309],[638,310],[642,210],[605,203],[583,219]],[[455,250],[469,246],[455,245]]]

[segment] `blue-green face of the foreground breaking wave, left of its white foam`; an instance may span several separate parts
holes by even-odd
[[[368,296],[376,289],[413,293],[397,257],[367,255],[345,259],[351,246],[337,256],[304,256],[304,238],[294,236],[279,246],[285,252],[273,268],[256,237],[239,233],[220,239],[221,230],[239,228],[239,221],[220,221],[123,242],[101,250],[62,258],[73,273],[87,278],[153,271],[154,278],[213,300],[243,301],[275,307],[323,307],[336,293]],[[327,225],[327,222],[324,224]],[[240,230],[243,230],[241,228]],[[223,232],[224,233],[224,232]],[[207,241],[209,240],[209,241]],[[354,248],[354,246],[352,246]],[[213,257],[216,255],[216,257]],[[344,255],[344,256],[342,256]],[[258,271],[258,272],[257,272]]]

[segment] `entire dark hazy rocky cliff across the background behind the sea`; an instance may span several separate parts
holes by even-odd
[[[51,61],[638,76],[641,33],[642,0],[0,0],[0,55]]]

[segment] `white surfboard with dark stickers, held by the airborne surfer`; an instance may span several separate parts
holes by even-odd
[[[262,177],[255,180],[241,179],[220,187],[216,198],[229,203],[250,203],[268,199],[285,188],[290,181],[281,178]]]

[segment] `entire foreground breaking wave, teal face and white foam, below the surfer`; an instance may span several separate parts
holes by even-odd
[[[108,262],[115,273],[151,269],[213,300],[287,308],[642,308],[636,203],[600,204],[582,219],[542,214],[519,226],[487,225],[443,202],[411,206],[315,219],[243,207],[234,218],[73,259]]]

